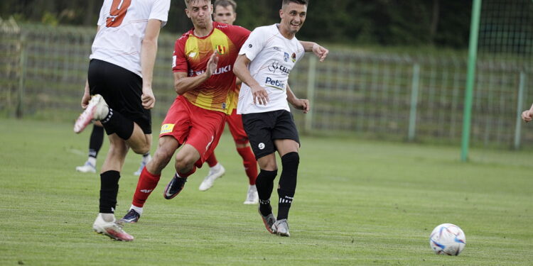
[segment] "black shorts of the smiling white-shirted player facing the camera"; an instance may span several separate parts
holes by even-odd
[[[286,110],[242,115],[242,124],[256,160],[274,153],[274,140],[294,140],[300,144],[292,113]]]

